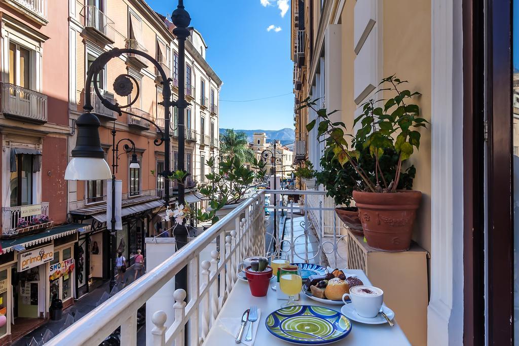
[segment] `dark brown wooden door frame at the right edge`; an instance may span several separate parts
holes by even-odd
[[[486,17],[483,13],[487,13]],[[463,162],[466,168],[463,341],[466,345],[483,345],[485,339],[489,345],[514,342],[511,25],[512,0],[463,1],[463,149],[467,153]]]

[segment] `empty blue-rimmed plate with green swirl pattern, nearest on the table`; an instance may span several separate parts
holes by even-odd
[[[300,345],[329,344],[351,331],[351,322],[345,315],[312,305],[276,310],[267,316],[265,325],[272,335]]]

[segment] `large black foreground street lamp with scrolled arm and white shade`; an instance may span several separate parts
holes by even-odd
[[[179,162],[178,162],[178,170],[185,172],[184,169],[184,114],[185,109],[187,107],[187,102],[185,101],[185,40],[189,36],[189,29],[187,26],[189,25],[191,18],[189,17],[189,13],[184,9],[183,1],[179,0],[179,5],[177,9],[173,12],[172,15],[173,24],[175,24],[175,29],[173,33],[176,35],[179,41],[179,99],[177,101],[171,100],[171,81],[172,79],[166,75],[162,66],[151,56],[148,54],[130,48],[114,48],[107,52],[102,53],[97,59],[95,59],[87,72],[87,78],[85,81],[85,104],[83,105],[83,109],[85,110],[84,114],[81,114],[76,121],[77,126],[77,141],[76,147],[72,150],[72,160],[67,165],[67,169],[65,171],[65,179],[66,180],[100,180],[100,179],[113,179],[113,174],[110,172],[110,167],[104,160],[104,151],[101,148],[101,142],[99,139],[99,126],[100,122],[97,116],[92,114],[92,103],[91,103],[91,89],[95,91],[97,97],[101,100],[102,104],[108,108],[117,112],[119,116],[122,113],[131,115],[132,117],[143,119],[149,123],[152,123],[161,134],[160,139],[156,139],[154,144],[156,146],[160,146],[164,144],[165,146],[165,162],[164,162],[164,171],[157,172],[158,174],[168,177],[172,174],[170,170],[170,160],[171,160],[171,138],[170,138],[170,117],[171,112],[170,108],[172,106],[176,106],[179,110],[179,123],[178,123],[178,134],[179,134]],[[164,130],[157,126],[157,124],[149,119],[141,117],[136,114],[132,114],[124,110],[124,108],[130,107],[135,103],[139,98],[139,84],[135,80],[134,77],[128,74],[119,75],[114,81],[114,91],[119,96],[128,96],[132,93],[133,85],[136,86],[137,92],[136,96],[133,100],[127,105],[119,105],[113,104],[111,101],[106,100],[98,87],[98,76],[99,73],[103,70],[108,61],[118,58],[121,54],[133,54],[136,56],[141,56],[151,62],[158,74],[160,75],[162,81],[162,106],[164,107]],[[132,80],[134,83],[132,83]],[[93,83],[92,83],[93,81]],[[113,136],[115,133],[113,132]],[[114,139],[115,142],[115,139]],[[114,148],[112,149],[114,150]],[[113,153],[115,155],[115,152]],[[115,162],[115,159],[114,159]],[[115,165],[115,168],[117,165]],[[178,182],[179,190],[178,190],[178,203],[185,204],[184,201],[184,184],[185,181]],[[167,207],[169,205],[169,186],[170,182],[168,178],[164,179],[164,205]],[[112,193],[115,193],[115,186],[112,185]],[[112,195],[113,196],[113,195]],[[113,230],[115,228],[115,217],[112,218],[112,227]],[[178,247],[182,247],[187,243],[187,229],[184,227],[176,227],[175,228],[175,237],[177,239]],[[112,244],[112,256],[115,256],[115,240],[114,237],[111,237]],[[112,261],[111,261],[112,262]],[[115,267],[115,266],[114,266]],[[113,268],[112,268],[113,270]],[[181,272],[175,275],[175,286],[176,288],[184,288],[187,290],[187,270],[184,268]]]

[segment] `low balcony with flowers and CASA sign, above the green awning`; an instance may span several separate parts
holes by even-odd
[[[20,237],[51,225],[49,202],[2,208],[2,238]]]

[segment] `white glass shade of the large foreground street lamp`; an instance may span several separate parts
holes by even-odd
[[[111,179],[108,163],[101,158],[73,157],[65,170],[65,180]]]

